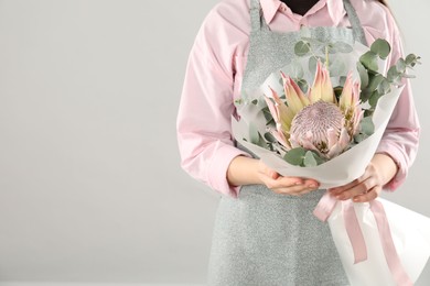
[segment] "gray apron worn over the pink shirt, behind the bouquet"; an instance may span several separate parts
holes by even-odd
[[[250,0],[251,33],[243,89],[258,88],[289,64],[300,33],[271,32],[259,0]],[[363,28],[344,0],[352,29],[310,29],[322,41],[365,43]],[[223,196],[217,209],[208,284],[219,286],[348,285],[329,226],[312,211],[325,190],[301,197],[277,195],[266,186],[243,186],[238,198]]]

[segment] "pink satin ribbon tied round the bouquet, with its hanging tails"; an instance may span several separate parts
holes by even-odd
[[[338,201],[332,197],[329,191],[326,191],[316,205],[316,208],[313,210],[313,215],[321,221],[325,222],[332,215],[337,202]],[[396,284],[401,286],[413,285],[408,274],[404,270],[400,258],[397,254],[383,204],[380,204],[380,201],[373,200],[369,202],[369,205],[370,211],[375,217],[376,226],[378,228],[384,255]],[[342,207],[346,233],[350,238],[354,252],[354,264],[366,261],[366,242],[364,240],[364,235],[355,213],[354,204],[352,201],[342,201]]]

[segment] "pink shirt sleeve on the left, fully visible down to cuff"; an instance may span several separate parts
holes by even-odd
[[[182,168],[211,188],[237,197],[239,188],[229,186],[227,169],[234,157],[248,154],[235,147],[232,136],[234,33],[235,26],[218,9],[203,22],[187,62],[176,132]]]

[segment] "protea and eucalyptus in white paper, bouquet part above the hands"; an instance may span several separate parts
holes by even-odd
[[[295,61],[236,101],[235,139],[281,175],[314,178],[322,188],[354,180],[420,59],[410,54],[387,68],[389,53],[380,38],[370,48],[303,38]]]

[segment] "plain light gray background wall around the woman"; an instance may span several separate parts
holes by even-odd
[[[175,117],[216,2],[0,1],[0,284],[204,283],[218,196],[180,169]],[[422,147],[386,197],[430,216],[430,3],[390,2]]]

